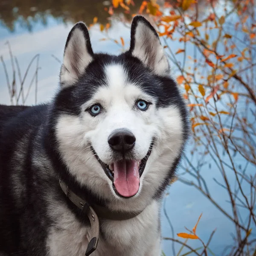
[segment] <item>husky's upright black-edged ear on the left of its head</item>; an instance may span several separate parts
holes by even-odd
[[[92,60],[93,50],[88,29],[83,22],[78,22],[67,37],[60,74],[61,86],[74,84]]]

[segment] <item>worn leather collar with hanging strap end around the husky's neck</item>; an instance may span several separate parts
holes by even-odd
[[[99,219],[123,221],[136,217],[144,210],[143,209],[140,212],[119,212],[95,204],[90,205],[84,199],[72,192],[63,180],[59,179],[59,183],[67,198],[69,198],[69,200],[89,218],[91,225],[91,240],[87,246],[85,256],[89,256],[96,250],[99,241]]]

